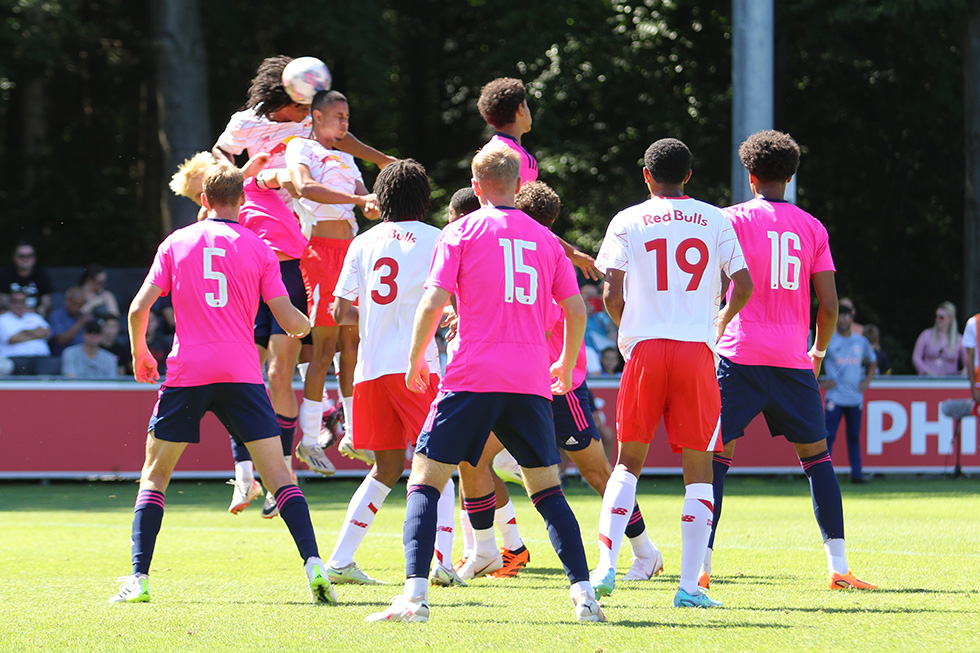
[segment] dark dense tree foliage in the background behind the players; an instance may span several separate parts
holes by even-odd
[[[776,127],[804,148],[799,202],[827,225],[842,294],[860,322],[881,325],[903,371],[902,350],[935,305],[962,297],[966,3],[776,4]],[[488,134],[475,110],[480,86],[516,76],[533,94],[525,144],[565,202],[557,228],[584,248],[643,197],[638,162],[664,135],[694,151],[690,193],[728,202],[730,4],[561,6],[201,2],[210,66],[201,120],[217,137],[263,57],[319,56],[352,99],[352,131],[421,161],[438,210],[468,183],[469,157]],[[0,0],[0,256],[29,237],[48,265],[147,264],[167,173],[149,7]]]

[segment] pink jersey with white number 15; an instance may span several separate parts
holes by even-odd
[[[554,234],[514,208],[474,211],[443,229],[425,285],[455,294],[459,311],[440,390],[551,398],[551,300],[578,294]]]

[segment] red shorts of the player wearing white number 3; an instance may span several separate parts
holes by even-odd
[[[429,387],[421,394],[405,387],[404,374],[354,384],[354,448],[386,451],[414,446],[438,388],[438,374],[429,375]]]

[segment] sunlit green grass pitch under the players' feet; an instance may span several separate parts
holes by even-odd
[[[326,558],[356,482],[302,487]],[[619,583],[603,601],[608,623],[573,621],[543,524],[529,501],[515,497],[532,553],[519,576],[433,588],[428,624],[365,624],[365,615],[401,591],[404,485],[357,556],[389,584],[340,586],[340,605],[320,606],[309,602],[281,520],[261,519],[258,504],[228,514],[226,485],[171,485],[150,576],[153,601],[110,605],[115,578],[130,571],[136,485],[0,484],[0,651],[980,650],[980,482],[889,478],[843,491],[849,561],[878,591],[826,589],[802,476],[733,476],[711,591],[725,607],[670,607],[682,485],[656,478],[641,481],[639,500],[666,571]],[[593,563],[599,498],[577,480],[567,494]]]

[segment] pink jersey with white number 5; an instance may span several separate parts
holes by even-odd
[[[262,383],[253,333],[259,295],[268,302],[286,288],[258,236],[225,220],[178,229],[157,249],[146,280],[172,293],[177,333],[164,385]]]

